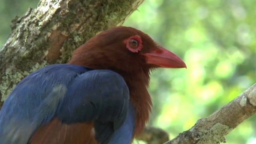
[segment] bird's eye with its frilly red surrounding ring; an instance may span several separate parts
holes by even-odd
[[[140,36],[135,35],[131,36],[130,38],[127,38],[124,43],[126,43],[126,48],[130,50],[131,52],[139,52],[142,49],[142,40]]]

